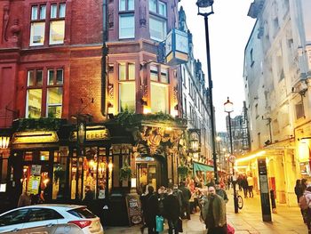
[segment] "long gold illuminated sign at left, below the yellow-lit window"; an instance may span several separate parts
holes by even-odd
[[[51,143],[58,142],[59,137],[53,131],[35,131],[14,133],[12,137],[12,144],[20,143]]]

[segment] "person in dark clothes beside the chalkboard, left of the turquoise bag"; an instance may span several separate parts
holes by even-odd
[[[148,213],[146,214],[146,224],[148,226],[148,234],[156,232],[156,215],[159,214],[159,202],[154,193],[155,189],[152,185],[148,185],[148,195],[146,195],[145,207]]]

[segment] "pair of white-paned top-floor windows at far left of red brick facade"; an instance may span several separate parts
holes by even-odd
[[[66,4],[51,4],[50,17],[46,16],[46,4],[31,6],[30,42],[31,46],[43,45],[45,29],[49,29],[49,44],[63,44],[65,37]],[[49,26],[49,27],[47,27]]]

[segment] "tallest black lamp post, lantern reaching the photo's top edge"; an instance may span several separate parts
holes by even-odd
[[[212,160],[214,166],[214,178],[215,182],[219,181],[219,175],[217,172],[217,155],[216,155],[216,146],[215,146],[215,123],[214,123],[214,106],[212,104],[212,81],[211,81],[211,54],[210,54],[210,37],[209,37],[209,24],[208,16],[213,14],[212,4],[213,0],[197,0],[197,14],[204,17],[205,23],[205,41],[206,41],[206,56],[207,56],[207,74],[209,82],[209,98],[210,98],[210,112],[211,112],[211,149],[212,149]],[[201,12],[200,10],[208,10],[211,8],[211,11]]]

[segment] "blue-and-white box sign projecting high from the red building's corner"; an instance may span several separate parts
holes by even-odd
[[[172,28],[165,41],[166,63],[170,66],[186,63],[188,53],[189,43],[187,33]]]

